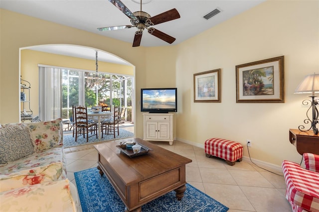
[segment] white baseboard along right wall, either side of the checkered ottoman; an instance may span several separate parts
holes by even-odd
[[[205,144],[194,143],[192,141],[184,140],[184,139],[181,139],[181,138],[176,138],[176,140],[180,141],[180,142],[183,142],[183,143],[187,143],[187,144],[192,145],[192,146],[196,146],[196,147],[205,149]],[[283,172],[281,166],[278,166],[278,165],[275,165],[275,164],[272,164],[272,163],[268,163],[266,161],[257,160],[257,159],[254,159],[254,158],[252,158],[251,160],[257,166],[262,167],[264,169],[267,169],[267,170],[270,169],[273,172]],[[243,156],[243,161],[251,163],[250,158],[247,157],[247,156]]]

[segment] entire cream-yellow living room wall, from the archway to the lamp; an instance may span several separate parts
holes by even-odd
[[[319,72],[318,0],[267,0],[166,47],[132,48],[131,43],[3,9],[0,18],[0,123],[18,120],[19,48],[81,45],[110,52],[135,66],[136,137],[143,137],[140,89],[177,87],[176,139],[200,147],[211,137],[235,140],[243,144],[245,157],[250,139],[250,155],[256,161],[275,168],[283,160],[301,161],[288,132],[303,124],[308,109],[302,101],[309,98],[295,95],[296,87],[306,75]],[[236,103],[235,66],[282,55],[285,103]],[[221,103],[194,103],[193,74],[218,68]]]

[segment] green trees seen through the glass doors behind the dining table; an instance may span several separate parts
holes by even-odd
[[[82,72],[83,73],[83,72]],[[62,74],[62,118],[72,117],[72,105],[79,105],[79,79],[84,76],[84,97],[85,106],[91,107],[98,103],[111,105],[110,101],[110,77],[109,74],[99,74],[85,72],[84,75],[79,71],[63,70]],[[132,78],[112,75],[112,105],[124,107],[124,82],[127,89],[127,106],[132,106]],[[98,101],[96,97],[98,89]],[[68,108],[68,109],[67,109]],[[128,113],[128,117],[131,114]]]

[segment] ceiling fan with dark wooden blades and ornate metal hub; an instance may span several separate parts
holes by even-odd
[[[109,31],[117,29],[126,29],[136,27],[138,30],[135,32],[133,47],[140,46],[142,35],[144,29],[147,29],[148,32],[163,41],[171,44],[175,41],[175,38],[161,32],[158,29],[153,28],[152,26],[160,24],[166,21],[174,20],[180,18],[178,11],[174,9],[167,10],[166,12],[160,13],[152,17],[149,13],[142,11],[142,0],[141,0],[141,11],[131,12],[121,0],[109,0],[113,3],[118,9],[120,9],[126,16],[131,19],[132,25],[122,25],[122,26],[110,26],[110,27],[101,27],[98,28],[100,31]]]

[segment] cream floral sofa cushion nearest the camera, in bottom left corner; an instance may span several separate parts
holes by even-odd
[[[1,212],[76,212],[69,180],[48,182],[0,193]]]

